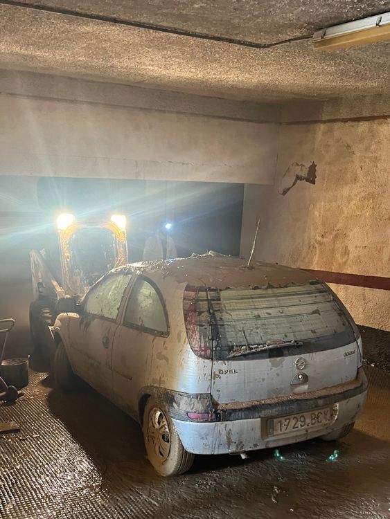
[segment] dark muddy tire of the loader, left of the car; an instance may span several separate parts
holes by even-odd
[[[46,362],[50,362],[55,352],[55,343],[49,326],[53,326],[54,317],[47,301],[34,301],[30,304],[30,334],[34,351]]]

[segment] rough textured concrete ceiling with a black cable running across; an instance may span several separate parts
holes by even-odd
[[[0,0],[1,68],[275,102],[389,89],[389,44],[321,53],[306,39],[319,28],[390,10],[389,0],[31,4]]]

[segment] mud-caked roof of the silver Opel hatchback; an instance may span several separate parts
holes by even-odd
[[[278,288],[308,284],[316,278],[306,271],[272,263],[252,262],[240,257],[216,254],[193,255],[166,261],[132,263],[111,272],[133,272],[154,280],[167,278],[172,282],[216,289],[229,287]]]

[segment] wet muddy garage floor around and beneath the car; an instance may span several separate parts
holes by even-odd
[[[366,373],[368,401],[344,440],[281,448],[283,459],[198,457],[164,479],[132,419],[94,390],[64,394],[31,372],[24,397],[0,406],[0,421],[21,426],[0,436],[0,517],[390,518],[390,374]]]

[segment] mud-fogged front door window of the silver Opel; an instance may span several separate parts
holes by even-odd
[[[108,319],[116,319],[123,293],[131,274],[112,274],[94,286],[87,294],[84,311]]]

